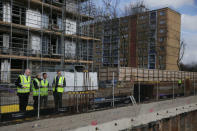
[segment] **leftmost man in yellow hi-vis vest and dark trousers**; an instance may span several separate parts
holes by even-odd
[[[19,98],[19,110],[20,112],[25,112],[28,105],[29,93],[30,93],[30,83],[31,83],[31,71],[26,69],[24,75],[19,75],[15,82],[17,87],[17,95]]]

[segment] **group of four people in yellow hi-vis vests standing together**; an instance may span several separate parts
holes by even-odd
[[[19,98],[19,110],[25,112],[30,92],[33,93],[34,110],[38,110],[38,106],[47,107],[49,81],[47,80],[47,73],[37,74],[34,79],[31,78],[30,69],[26,69],[23,75],[19,75],[15,82],[17,87],[17,95]],[[57,76],[54,77],[52,88],[54,96],[55,111],[58,111],[62,107],[62,94],[66,87],[65,77],[61,75],[60,71],[57,71]],[[39,102],[40,100],[40,102]]]

